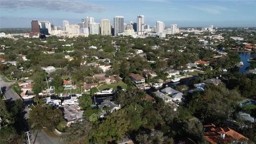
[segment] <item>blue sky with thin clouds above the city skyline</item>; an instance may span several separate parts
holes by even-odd
[[[85,0],[0,0],[0,28],[29,28],[31,20],[50,21],[62,26],[63,20],[77,24],[84,17],[136,21],[145,15],[151,26],[163,21],[165,27],[256,27],[256,0],[250,1],[85,1]]]

